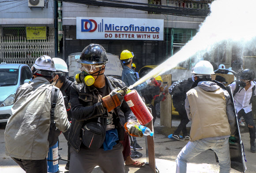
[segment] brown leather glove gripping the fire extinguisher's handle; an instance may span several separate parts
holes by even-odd
[[[112,92],[110,92],[109,95],[102,98],[102,105],[107,108],[108,112],[113,110],[115,107],[118,107],[121,105],[125,92],[120,90],[120,88],[114,89]]]

